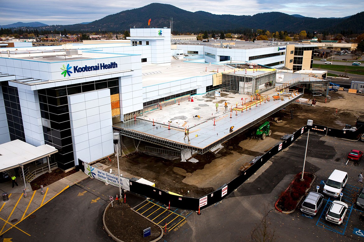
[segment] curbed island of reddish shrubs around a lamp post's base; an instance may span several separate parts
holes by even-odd
[[[310,187],[314,179],[311,173],[304,173],[304,181],[301,181],[301,176],[302,173],[298,173],[288,188],[282,192],[276,204],[278,209],[288,212],[296,208],[298,201],[305,195],[306,190]]]

